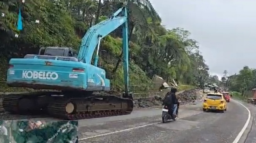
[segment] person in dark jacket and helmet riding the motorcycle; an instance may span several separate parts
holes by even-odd
[[[166,94],[165,99],[163,100],[163,105],[167,105],[169,108],[169,114],[172,114],[174,116],[176,116],[176,110],[178,105],[178,98],[176,97],[175,94],[176,92],[177,88],[171,88],[171,91]]]

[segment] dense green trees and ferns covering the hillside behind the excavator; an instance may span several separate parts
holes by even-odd
[[[120,8],[121,0],[2,0],[0,11],[0,80],[5,81],[8,60],[37,54],[42,46],[80,47],[81,38],[92,25],[105,20]],[[189,89],[203,88],[208,66],[198,42],[182,28],[165,29],[149,0],[127,0],[129,9],[130,84],[134,92],[151,89],[154,74],[167,82],[178,80]],[[21,5],[24,29],[16,30]],[[40,23],[35,23],[39,20]],[[15,38],[15,34],[19,34]],[[107,71],[114,90],[123,89],[122,30],[117,29],[101,42],[100,65]],[[103,52],[105,51],[105,52]],[[17,91],[0,85],[1,91]],[[27,90],[27,89],[22,89]],[[21,89],[19,90],[21,91]]]

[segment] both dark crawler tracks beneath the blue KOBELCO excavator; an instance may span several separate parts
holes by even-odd
[[[6,95],[3,100],[3,107],[5,111],[15,114],[42,113],[45,111],[42,109],[46,109],[51,116],[64,120],[118,116],[130,114],[133,111],[133,100],[129,98],[113,95],[75,98],[71,96],[53,97],[51,95],[61,95],[61,93],[36,92]],[[31,106],[23,107],[25,104]]]

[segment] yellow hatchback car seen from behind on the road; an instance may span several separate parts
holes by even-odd
[[[203,102],[203,111],[216,110],[224,113],[227,111],[227,101],[222,93],[208,93]]]

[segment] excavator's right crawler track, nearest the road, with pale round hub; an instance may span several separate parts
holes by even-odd
[[[109,95],[94,95],[87,98],[57,97],[47,109],[51,116],[65,120],[100,118],[131,114],[133,100]]]

